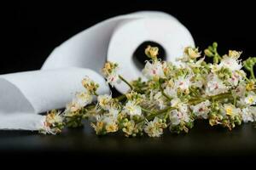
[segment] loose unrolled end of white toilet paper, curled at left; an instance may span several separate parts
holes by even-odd
[[[102,76],[83,68],[26,71],[0,76],[0,129],[40,129],[44,116],[38,113],[65,107],[76,92],[84,90],[81,80],[85,76],[101,84],[97,93],[109,93]]]

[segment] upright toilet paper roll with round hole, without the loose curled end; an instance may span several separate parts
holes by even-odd
[[[102,21],[71,37],[49,55],[42,70],[69,66],[90,68],[101,73],[106,60],[117,62],[127,80],[143,77],[132,59],[136,48],[145,41],[159,43],[166,60],[175,61],[183,48],[194,46],[189,31],[170,14],[144,11]],[[115,85],[121,93],[125,83]]]

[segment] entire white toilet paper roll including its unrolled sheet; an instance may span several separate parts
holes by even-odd
[[[64,108],[83,90],[84,76],[100,84],[98,94],[108,94],[100,76],[107,59],[118,62],[127,79],[142,76],[131,55],[144,41],[160,43],[172,61],[194,46],[189,31],[170,14],[144,11],[102,21],[55,48],[40,71],[0,76],[0,129],[41,129],[45,116],[39,113]],[[122,83],[115,88],[127,90]]]

